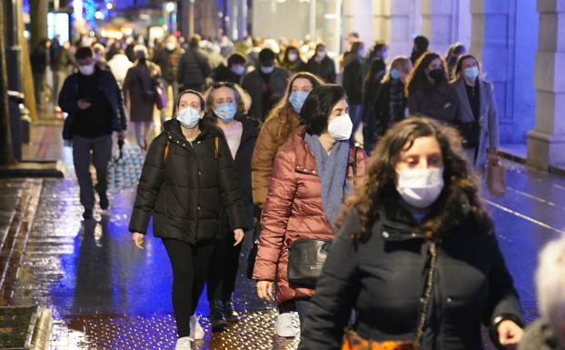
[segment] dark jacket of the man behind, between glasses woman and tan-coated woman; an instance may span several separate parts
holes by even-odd
[[[263,115],[269,111],[265,111],[263,106],[263,77],[259,73],[259,69],[255,69],[246,75],[243,75],[242,87],[249,93],[252,99],[249,115],[254,118],[263,120]],[[269,75],[269,89],[271,90],[273,105],[275,105],[284,95],[284,89],[288,84],[289,71],[281,67],[274,67],[273,73]]]

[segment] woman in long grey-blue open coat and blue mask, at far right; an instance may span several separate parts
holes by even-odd
[[[481,77],[481,65],[473,55],[462,55],[455,66],[452,83],[458,97],[454,122],[463,139],[471,165],[483,171],[487,154],[496,155],[500,145],[499,117],[492,83]]]

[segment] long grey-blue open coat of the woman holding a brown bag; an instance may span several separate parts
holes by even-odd
[[[474,162],[475,169],[483,169],[487,161],[487,149],[497,149],[500,146],[499,141],[499,116],[494,100],[494,92],[492,83],[479,79],[479,100],[480,100],[480,118],[479,125],[481,132],[479,135],[479,146],[477,157]],[[474,123],[475,116],[472,113],[471,104],[467,97],[467,89],[463,78],[455,81],[453,84],[457,97],[459,99],[458,112],[456,122]]]

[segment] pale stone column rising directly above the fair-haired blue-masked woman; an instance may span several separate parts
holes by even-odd
[[[420,34],[420,0],[373,0],[375,40],[389,44],[389,57],[410,55],[412,36]]]

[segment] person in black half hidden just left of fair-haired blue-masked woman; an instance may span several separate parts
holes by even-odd
[[[362,125],[363,125],[363,148],[370,153],[376,138],[375,125],[375,101],[381,87],[382,77],[386,74],[386,64],[382,58],[372,60],[369,73],[363,80],[363,105],[362,105]]]

